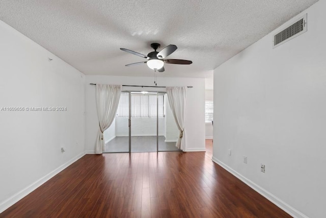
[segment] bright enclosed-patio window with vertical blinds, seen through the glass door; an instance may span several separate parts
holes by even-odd
[[[129,116],[129,93],[122,92],[117,110],[117,116]],[[158,94],[158,116],[164,117],[164,94]],[[156,117],[156,93],[131,92],[131,116],[132,117]]]

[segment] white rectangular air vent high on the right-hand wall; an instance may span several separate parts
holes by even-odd
[[[307,32],[307,14],[274,35],[273,49],[305,32]]]

